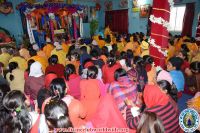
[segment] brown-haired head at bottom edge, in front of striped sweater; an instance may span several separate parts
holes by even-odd
[[[162,121],[153,112],[145,111],[137,127],[137,133],[164,133]]]

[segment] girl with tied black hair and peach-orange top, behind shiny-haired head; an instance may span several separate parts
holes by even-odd
[[[64,79],[56,78],[51,82],[50,95],[51,97],[46,99],[42,105],[42,112],[44,112],[45,106],[49,101],[53,99],[62,100],[67,104],[69,109],[69,117],[73,124],[73,127],[81,127],[85,125],[84,118],[86,117],[86,110],[80,101],[76,100],[70,95],[66,95],[66,84]]]

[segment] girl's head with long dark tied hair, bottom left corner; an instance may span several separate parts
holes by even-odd
[[[9,118],[3,127],[7,133],[27,133],[31,128],[31,119],[25,105],[26,97],[18,90],[9,92],[3,99],[3,105],[9,112]]]

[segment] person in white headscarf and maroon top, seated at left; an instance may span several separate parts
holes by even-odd
[[[36,61],[31,65],[29,77],[25,80],[24,93],[36,104],[38,91],[44,86],[42,65]]]

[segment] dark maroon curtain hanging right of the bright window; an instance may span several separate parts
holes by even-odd
[[[187,3],[183,18],[182,36],[192,36],[192,24],[194,20],[195,3]]]

